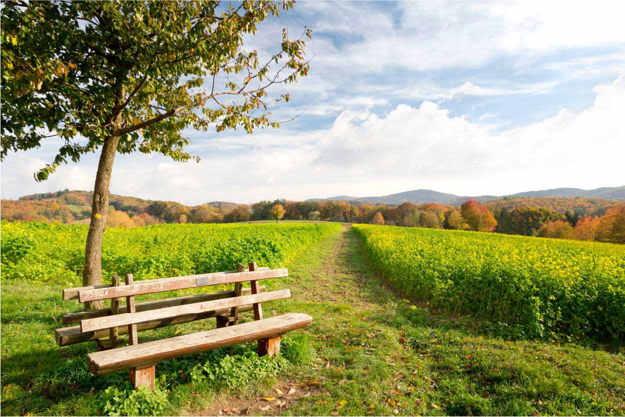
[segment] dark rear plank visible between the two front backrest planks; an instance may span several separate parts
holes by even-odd
[[[109,288],[109,286],[107,286]],[[266,286],[261,286],[260,291],[266,291]],[[252,293],[251,288],[243,288],[241,290],[241,295],[249,295]],[[183,306],[186,304],[200,303],[201,301],[211,301],[214,299],[222,299],[222,298],[230,298],[234,296],[234,291],[232,289],[228,291],[219,291],[217,293],[209,293],[209,294],[197,294],[191,296],[184,296],[178,298],[168,298],[168,299],[159,299],[157,301],[148,301],[146,303],[138,303],[135,304],[137,312],[139,311],[148,311],[155,310],[159,308],[173,307],[173,306]],[[239,311],[241,309],[239,308]],[[246,310],[249,311],[249,310]],[[119,314],[128,313],[126,311],[126,306],[119,306]],[[111,315],[110,308],[103,308],[99,310],[90,310],[90,311],[79,311],[78,313],[65,313],[61,316],[61,323],[64,326],[68,326],[69,324],[78,324],[81,320],[96,318],[96,317],[106,317]]]

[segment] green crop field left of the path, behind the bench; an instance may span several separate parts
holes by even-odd
[[[103,276],[134,279],[228,271],[237,262],[281,267],[339,224],[158,224],[109,228]],[[2,222],[2,279],[73,285],[82,277],[89,226]]]

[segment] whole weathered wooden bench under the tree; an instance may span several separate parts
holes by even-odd
[[[67,288],[63,290],[64,300],[78,299],[84,303],[111,299],[111,308],[63,314],[63,324],[80,324],[56,329],[56,343],[68,346],[95,340],[98,351],[87,355],[91,373],[97,376],[128,369],[134,388],[146,385],[151,390],[154,390],[154,367],[166,359],[254,340],[258,341],[259,356],[273,356],[280,349],[282,334],[306,327],[312,321],[311,316],[302,313],[262,318],[261,303],[289,298],[291,291],[266,292],[264,286],[259,286],[259,280],[286,276],[287,269],[257,269],[256,263],[250,263],[249,269],[239,264],[237,271],[134,283],[132,274],[128,274],[124,283],[113,276],[112,284]],[[249,288],[242,288],[244,281],[249,281]],[[134,297],[140,294],[229,283],[234,283],[231,291],[134,303]],[[126,306],[119,306],[120,298],[126,298]],[[254,321],[237,324],[239,313],[244,311],[254,311]],[[212,317],[217,320],[215,329],[139,344],[139,331]],[[125,343],[120,338],[123,334],[128,334],[128,346],[121,346]]]

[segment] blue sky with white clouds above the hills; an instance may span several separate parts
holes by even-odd
[[[244,49],[304,26],[309,75],[271,106],[280,129],[184,131],[199,163],[116,156],[111,193],[197,205],[460,196],[625,184],[622,1],[297,1]],[[279,91],[276,91],[279,93]],[[98,154],[43,183],[58,142],[9,153],[3,199],[92,190]]]

